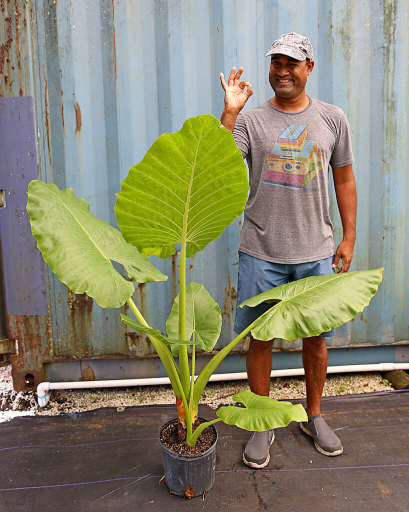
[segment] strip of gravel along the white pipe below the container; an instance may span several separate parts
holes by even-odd
[[[206,403],[214,409],[221,404],[235,403],[233,395],[243,389],[249,389],[246,380],[210,382],[200,403]],[[388,390],[391,390],[391,385],[387,380],[382,379],[380,373],[340,373],[327,376],[323,395],[351,395]],[[284,400],[305,398],[304,377],[272,378],[270,397]],[[138,386],[53,391],[48,406],[39,408],[33,391],[16,392],[13,390],[11,367],[0,368],[0,422],[17,416],[57,416],[92,411],[102,407],[171,404],[174,401],[173,391],[169,385]]]

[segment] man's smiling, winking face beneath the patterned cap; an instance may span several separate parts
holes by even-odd
[[[314,67],[313,60],[296,60],[288,55],[271,55],[268,80],[277,96],[297,98],[304,92],[307,76]]]

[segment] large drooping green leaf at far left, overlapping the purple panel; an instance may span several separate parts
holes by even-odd
[[[29,185],[27,211],[31,229],[44,260],[59,279],[75,293],[86,292],[103,308],[122,306],[134,292],[113,268],[121,263],[140,283],[166,281],[145,254],[125,242],[120,231],[89,212],[89,203],[71,188],[33,180]]]

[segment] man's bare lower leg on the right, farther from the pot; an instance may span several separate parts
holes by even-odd
[[[327,376],[328,352],[324,336],[303,339],[303,366],[307,389],[307,414],[320,414],[321,397]]]

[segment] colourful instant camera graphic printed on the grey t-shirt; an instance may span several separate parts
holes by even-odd
[[[302,188],[323,168],[323,156],[315,140],[307,140],[309,124],[289,124],[268,155],[263,183]]]

